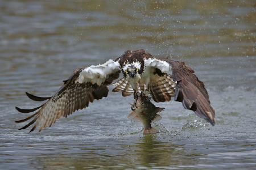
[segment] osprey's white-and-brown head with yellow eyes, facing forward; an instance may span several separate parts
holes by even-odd
[[[129,76],[131,78],[140,78],[141,76],[139,73],[141,73],[141,64],[138,63],[131,63],[127,64],[123,67],[123,72],[125,76]]]

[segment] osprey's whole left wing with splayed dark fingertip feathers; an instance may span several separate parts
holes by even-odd
[[[35,101],[46,101],[43,105],[34,109],[16,109],[21,113],[37,111],[31,116],[16,121],[24,122],[34,118],[26,126],[26,129],[34,124],[30,131],[40,126],[39,131],[50,127],[60,117],[67,117],[69,114],[88,107],[94,99],[102,99],[108,96],[108,85],[119,77],[119,63],[110,59],[103,65],[90,66],[85,69],[77,69],[69,79],[64,80],[63,86],[52,97],[38,97],[26,92],[26,95]],[[19,130],[20,130],[19,129]]]

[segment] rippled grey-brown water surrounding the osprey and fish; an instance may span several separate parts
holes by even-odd
[[[0,1],[0,169],[256,167],[255,1]],[[18,130],[25,91],[53,95],[78,67],[127,49],[185,61],[205,82],[212,127],[180,103],[146,135],[131,97],[108,99],[41,133]],[[112,88],[112,87],[110,87]]]

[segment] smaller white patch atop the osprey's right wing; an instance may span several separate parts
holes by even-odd
[[[144,66],[148,67],[156,67],[158,68],[160,71],[162,71],[162,73],[168,73],[171,71],[171,66],[169,65],[169,63],[167,63],[166,61],[161,61],[160,59],[156,59],[156,58],[148,58],[144,60]]]

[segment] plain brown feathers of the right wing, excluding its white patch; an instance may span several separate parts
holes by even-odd
[[[194,111],[197,116],[204,118],[210,124],[215,124],[215,111],[210,105],[209,95],[190,67],[184,62],[166,59],[172,66],[172,78],[177,82],[175,101],[183,103],[185,109]]]

